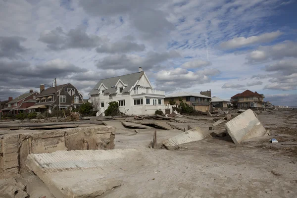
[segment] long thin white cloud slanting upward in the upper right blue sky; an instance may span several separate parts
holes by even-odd
[[[252,37],[236,37],[232,40],[223,42],[220,44],[221,48],[223,49],[235,49],[235,48],[242,48],[253,44],[261,44],[261,43],[268,43],[273,41],[277,37],[282,35],[280,31],[264,33],[259,36],[252,36]]]

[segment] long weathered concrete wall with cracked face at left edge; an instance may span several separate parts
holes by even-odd
[[[114,148],[113,126],[8,132],[0,135],[0,179],[27,171],[25,161],[30,153]]]

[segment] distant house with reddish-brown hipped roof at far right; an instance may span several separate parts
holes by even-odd
[[[264,95],[249,90],[231,97],[231,102],[237,108],[263,108]]]

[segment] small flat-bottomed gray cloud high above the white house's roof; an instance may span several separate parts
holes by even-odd
[[[104,43],[96,50],[98,53],[127,53],[130,51],[143,51],[145,49],[144,44],[137,44],[131,41],[118,41],[115,43]]]

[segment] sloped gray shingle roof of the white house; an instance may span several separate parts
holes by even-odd
[[[92,91],[89,93],[89,95],[99,94],[98,90],[95,90],[95,89],[99,88],[101,83],[103,83],[103,85],[105,87],[107,87],[107,90],[104,93],[115,94],[117,89],[115,87],[112,88],[112,86],[114,86],[118,82],[119,79],[121,79],[121,81],[123,81],[123,83],[127,85],[127,87],[125,87],[123,89],[123,92],[129,92],[130,89],[132,88],[132,86],[136,83],[136,81],[138,79],[140,79],[140,77],[143,75],[143,73],[144,72],[142,71],[142,72],[137,72],[137,73],[132,73],[132,74],[126,74],[123,76],[116,76],[116,77],[112,77],[112,78],[101,79],[95,85],[95,87],[92,89]]]

